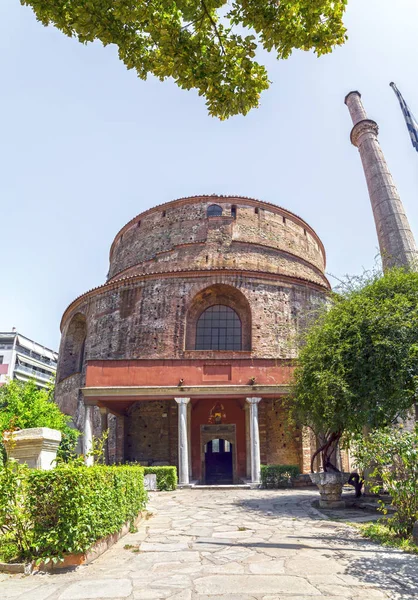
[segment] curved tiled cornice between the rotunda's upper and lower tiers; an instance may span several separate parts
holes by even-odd
[[[173,271],[165,271],[165,272],[157,272],[157,273],[145,273],[142,275],[131,275],[129,277],[121,277],[120,279],[114,279],[109,281],[108,283],[104,283],[103,285],[99,285],[95,288],[92,288],[88,292],[81,294],[78,296],[71,304],[66,308],[60,323],[60,330],[62,332],[64,323],[68,317],[68,315],[73,312],[76,308],[78,308],[85,300],[92,298],[94,296],[98,296],[101,293],[117,290],[120,287],[125,285],[129,285],[131,283],[136,283],[137,281],[145,281],[146,279],[162,279],[162,278],[203,278],[208,275],[227,275],[228,277],[233,275],[239,275],[241,277],[254,278],[258,277],[261,279],[267,279],[270,281],[283,281],[286,283],[294,283],[297,285],[306,285],[312,289],[328,292],[331,289],[328,281],[326,285],[320,285],[314,281],[310,281],[309,279],[305,279],[303,277],[294,277],[290,275],[284,274],[276,274],[276,273],[268,273],[265,271],[253,271],[246,269],[181,269],[181,270],[173,270]]]

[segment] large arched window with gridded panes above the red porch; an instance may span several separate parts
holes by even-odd
[[[196,326],[196,350],[242,350],[242,326],[238,314],[223,304],[210,306]]]

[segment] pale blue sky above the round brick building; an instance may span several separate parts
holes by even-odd
[[[105,281],[114,235],[139,212],[194,194],[241,194],[299,214],[328,273],[371,267],[377,239],[343,101],[361,91],[418,236],[418,155],[395,81],[418,113],[418,3],[349,0],[349,41],[320,59],[262,56],[271,88],[219,122],[172,82],[143,82],[114,47],[83,46],[0,2],[0,331],[58,348],[59,322]],[[333,281],[333,280],[332,280]]]

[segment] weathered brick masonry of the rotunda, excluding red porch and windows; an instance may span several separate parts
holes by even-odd
[[[207,216],[211,204],[222,207],[222,216]],[[139,215],[115,238],[107,283],[77,298],[64,313],[59,405],[82,429],[80,390],[89,361],[231,362],[245,356],[274,364],[294,359],[298,332],[329,290],[324,268],[325,252],[316,233],[274,205],[196,197]],[[194,349],[199,310],[216,303],[229,303],[238,312],[244,328],[242,352]],[[96,434],[98,413],[96,409]],[[113,461],[176,464],[174,400],[131,402],[109,423]],[[280,400],[260,404],[263,462],[303,467],[301,440],[287,430]]]

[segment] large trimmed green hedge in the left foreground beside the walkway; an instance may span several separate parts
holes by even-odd
[[[143,475],[143,468],[128,466],[6,466],[0,471],[0,531],[8,541],[16,531],[20,559],[85,552],[145,508]]]

